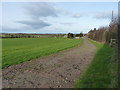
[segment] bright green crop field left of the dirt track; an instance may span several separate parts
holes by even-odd
[[[12,38],[2,40],[2,68],[78,46],[82,39]]]

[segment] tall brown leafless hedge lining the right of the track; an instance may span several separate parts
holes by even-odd
[[[110,39],[117,39],[118,24],[117,21],[111,22],[109,27],[101,27],[98,30],[91,30],[88,37],[99,42],[110,43]]]

